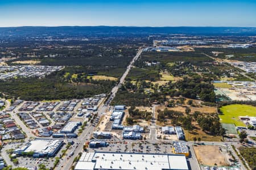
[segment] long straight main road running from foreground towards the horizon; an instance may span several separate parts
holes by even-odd
[[[132,61],[127,66],[127,69],[126,69],[125,73],[123,73],[122,77],[120,78],[119,83],[117,83],[117,85],[112,88],[112,91],[110,93],[111,96],[106,100],[105,104],[102,102],[101,105],[98,107],[98,116],[97,116],[97,118],[99,120],[100,120],[100,117],[109,108],[109,104],[111,103],[115,94],[117,93],[118,88],[121,87],[121,85],[125,81],[126,76],[128,75],[129,71],[131,70],[131,67],[133,66],[133,63],[139,58],[139,56],[141,56],[142,50],[143,50],[142,48],[138,49],[137,54],[134,56]],[[92,126],[92,124],[90,124],[90,122],[88,122],[88,125],[85,128],[86,129],[82,132],[82,134],[77,139],[75,139],[75,144],[72,146],[71,149],[69,149],[67,151],[67,155],[64,156],[62,158],[62,160],[60,160],[60,163],[57,165],[57,167],[55,169],[57,169],[57,170],[71,169],[72,164],[73,164],[73,160],[75,159],[75,157],[77,155],[79,155],[79,152],[83,151],[83,146],[84,146],[85,141],[89,140],[90,134],[92,134],[93,131],[95,130],[95,127]],[[73,155],[69,158],[69,155],[71,155],[72,151],[74,151]]]

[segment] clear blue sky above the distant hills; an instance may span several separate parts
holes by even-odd
[[[23,25],[256,27],[256,0],[0,0],[0,27]]]

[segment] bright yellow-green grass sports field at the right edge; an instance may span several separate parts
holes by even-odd
[[[239,116],[255,116],[256,107],[245,104],[231,104],[220,108],[222,115],[219,115],[221,123],[246,126],[239,120]]]

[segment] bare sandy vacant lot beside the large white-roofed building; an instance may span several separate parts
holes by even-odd
[[[196,158],[200,164],[214,166],[228,166],[229,156],[224,148],[215,145],[197,145],[193,146]],[[220,150],[221,148],[221,150]]]

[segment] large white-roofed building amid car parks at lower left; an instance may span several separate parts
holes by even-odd
[[[22,148],[17,148],[14,153],[22,155],[27,152],[34,152],[33,157],[39,158],[43,156],[52,157],[60,150],[63,141],[58,139],[35,139],[28,142]]]

